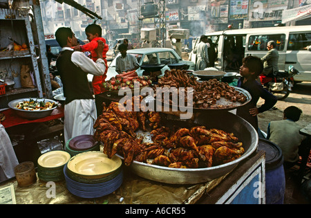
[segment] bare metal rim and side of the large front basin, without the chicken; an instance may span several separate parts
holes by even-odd
[[[257,150],[258,134],[256,130],[243,118],[240,118],[233,113],[226,111],[219,116],[218,113],[211,111],[210,113],[198,116],[193,122],[191,122],[191,120],[180,120],[177,117],[176,120],[174,120],[171,119],[169,115],[167,116],[167,119],[165,119],[167,125],[177,125],[178,127],[205,125],[207,128],[217,128],[232,132],[243,143],[245,153],[232,162],[214,167],[197,169],[176,169],[133,161],[129,168],[135,174],[145,179],[171,184],[204,183],[231,172],[238,163]],[[122,158],[120,155],[117,156]]]

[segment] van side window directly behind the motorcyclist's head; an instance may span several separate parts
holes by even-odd
[[[276,42],[276,49],[284,50],[285,34],[276,35],[251,35],[248,39],[248,51],[267,51],[267,43],[269,41]]]

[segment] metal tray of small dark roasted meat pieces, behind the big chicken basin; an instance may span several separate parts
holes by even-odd
[[[157,103],[161,103],[164,107],[171,109],[178,107],[183,111],[188,109],[193,109],[194,111],[229,111],[242,107],[252,100],[252,96],[245,89],[229,86],[227,82],[220,82],[216,79],[198,82],[194,76],[187,75],[186,71],[180,70],[166,71],[165,75],[153,89],[157,90],[159,87],[176,87],[177,89],[159,89],[162,91],[161,98],[158,98],[159,94],[155,91],[154,98]],[[185,100],[182,104],[179,103],[179,99],[186,99],[179,96],[178,89],[180,87],[193,88],[192,102]],[[170,98],[165,98],[165,90],[169,93]],[[187,93],[185,93],[185,96],[187,96]]]

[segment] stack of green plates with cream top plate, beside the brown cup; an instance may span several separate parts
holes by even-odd
[[[60,181],[64,179],[64,166],[70,154],[64,151],[51,151],[38,158],[37,173],[42,181]]]

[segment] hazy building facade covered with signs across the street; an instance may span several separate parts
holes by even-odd
[[[167,30],[187,28],[193,37],[224,30],[228,25],[232,28],[274,26],[281,24],[284,10],[311,5],[310,0],[77,0],[102,17],[96,20],[66,3],[55,0],[40,3],[46,34],[55,33],[60,26],[70,26],[84,40],[85,27],[96,21],[109,42],[124,35],[130,40],[140,39],[141,28],[160,28],[163,23]],[[142,6],[147,4],[156,5],[153,7],[156,16],[142,16]],[[310,18],[285,25],[305,24],[311,24]]]

